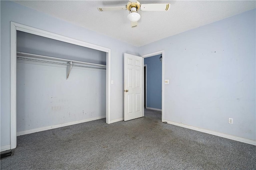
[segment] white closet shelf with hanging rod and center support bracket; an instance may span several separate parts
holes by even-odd
[[[44,56],[44,55],[36,55],[36,54],[22,53],[22,52],[17,52],[16,55],[17,56],[24,56],[24,57],[36,57],[36,58],[40,58],[40,59],[50,59],[50,60],[56,60],[56,61],[65,61],[67,63],[57,63],[57,62],[52,62],[52,61],[42,61],[42,60],[36,60],[36,59],[27,59],[27,58],[17,57],[17,59],[23,59],[23,60],[29,60],[29,61],[38,61],[38,62],[43,62],[43,63],[67,65],[67,80],[68,80],[68,77],[70,75],[70,71],[71,71],[73,66],[75,66],[75,67],[93,68],[93,69],[106,69],[106,65],[95,64],[95,63],[88,63],[88,62],[83,62],[83,61],[61,59],[61,58],[56,58],[56,57],[48,57],[48,56]],[[83,64],[83,65],[75,65],[74,63]],[[85,65],[90,65],[90,66],[85,66]]]

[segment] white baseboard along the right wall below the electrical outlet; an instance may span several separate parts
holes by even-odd
[[[193,126],[190,126],[190,125],[184,125],[182,123],[176,123],[176,122],[167,121],[167,120],[163,120],[163,122],[167,122],[168,124],[176,125],[176,126],[179,126],[179,127],[189,128],[189,129],[196,130],[196,131],[199,131],[199,132],[212,134],[212,135],[215,135],[215,136],[220,136],[222,138],[236,140],[238,142],[244,142],[244,143],[247,143],[247,144],[256,145],[256,140],[251,140],[251,139],[241,138],[241,137],[237,137],[237,136],[232,136],[232,135],[229,135],[229,134],[215,132],[215,131],[207,130],[207,129],[204,129],[204,128],[193,127]]]

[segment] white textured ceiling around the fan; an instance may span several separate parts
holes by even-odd
[[[61,20],[130,43],[135,46],[256,8],[256,1],[161,1],[140,0],[141,4],[170,3],[167,12],[139,11],[138,27],[131,28],[128,11],[99,12],[97,7],[125,6],[127,0],[14,1]]]

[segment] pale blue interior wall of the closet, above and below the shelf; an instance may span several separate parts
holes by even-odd
[[[106,65],[105,52],[20,31],[17,51]],[[106,70],[66,73],[65,65],[17,59],[17,135],[106,117]]]

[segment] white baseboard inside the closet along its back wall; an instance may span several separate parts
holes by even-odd
[[[84,119],[84,120],[74,121],[74,122],[68,122],[68,123],[53,125],[53,126],[49,126],[49,127],[35,128],[35,129],[31,129],[31,130],[17,132],[17,136],[24,135],[24,134],[35,133],[35,132],[41,132],[41,131],[50,130],[50,129],[53,129],[53,128],[66,127],[66,126],[75,125],[75,124],[78,124],[78,123],[85,123],[85,122],[89,122],[89,121],[95,121],[95,120],[103,119],[103,118],[106,118],[106,116],[94,117],[94,118]]]

